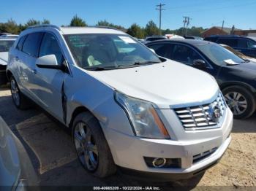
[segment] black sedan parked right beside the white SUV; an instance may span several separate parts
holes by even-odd
[[[256,65],[213,42],[191,39],[161,40],[146,44],[157,55],[187,64],[217,79],[237,119],[256,109]],[[187,77],[188,80],[189,77]]]

